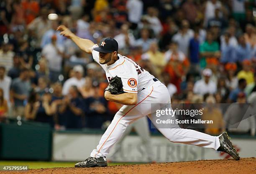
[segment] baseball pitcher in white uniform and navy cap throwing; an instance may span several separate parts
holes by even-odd
[[[104,38],[98,46],[88,39],[79,38],[65,26],[59,26],[57,30],[61,31],[61,35],[72,39],[80,49],[92,54],[93,59],[105,70],[109,82],[104,93],[105,99],[124,105],[115,114],[90,157],[75,164],[75,167],[107,166],[106,156],[110,148],[122,137],[129,124],[146,115],[151,120],[155,119],[156,110],[151,108],[151,103],[169,104],[171,108],[169,92],[164,84],[136,62],[118,54],[115,39]],[[159,128],[158,124],[155,126],[171,142],[213,148],[230,154],[235,160],[240,159],[226,132],[220,136],[210,136],[179,128],[178,125],[174,128]]]

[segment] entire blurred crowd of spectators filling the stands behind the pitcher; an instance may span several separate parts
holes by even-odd
[[[105,72],[59,35],[59,25],[94,43],[115,38],[118,53],[166,84],[173,103],[253,105],[255,6],[255,0],[1,0],[0,120],[20,115],[57,130],[104,129],[121,107],[104,99]],[[252,126],[246,132],[254,135]]]

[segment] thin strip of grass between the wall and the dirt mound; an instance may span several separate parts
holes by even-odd
[[[0,165],[6,166],[28,166],[29,169],[54,168],[54,167],[74,167],[77,162],[52,162],[52,161],[0,161]],[[135,163],[109,163],[109,166]]]

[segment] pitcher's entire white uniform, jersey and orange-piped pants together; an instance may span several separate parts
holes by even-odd
[[[93,48],[97,47],[95,44]],[[92,56],[99,63],[99,52],[92,50]],[[192,144],[196,146],[213,148],[217,150],[220,147],[218,136],[210,136],[205,133],[190,129],[179,128],[179,125],[172,124],[172,128],[161,128],[156,124],[156,109],[152,103],[163,103],[166,108],[171,107],[171,98],[164,84],[153,80],[154,76],[142,69],[131,59],[118,54],[119,59],[112,65],[100,64],[105,70],[108,81],[118,76],[123,82],[123,91],[138,92],[138,102],[136,105],[123,105],[115,114],[111,124],[100,139],[96,149],[90,154],[91,157],[104,157],[110,152],[115,142],[123,136],[125,129],[134,121],[148,116],[155,127],[171,142]],[[144,90],[142,90],[145,88]],[[164,108],[161,108],[164,110]],[[171,115],[165,115],[165,118],[172,119]],[[147,152],[148,153],[148,152]]]

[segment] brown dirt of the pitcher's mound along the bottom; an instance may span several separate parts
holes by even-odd
[[[240,161],[200,160],[159,164],[117,165],[94,168],[48,168],[29,171],[1,171],[0,174],[256,174],[256,158]]]

